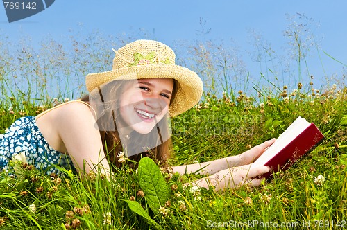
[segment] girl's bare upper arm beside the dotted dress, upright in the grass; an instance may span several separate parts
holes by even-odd
[[[56,114],[56,130],[78,172],[106,174],[110,166],[103,152],[99,129],[90,108],[70,103]]]

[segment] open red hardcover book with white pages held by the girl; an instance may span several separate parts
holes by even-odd
[[[295,161],[310,152],[324,138],[323,134],[305,118],[298,117],[280,134],[278,139],[252,164],[252,167],[269,166],[271,172],[262,176],[269,178],[272,173],[286,170]]]

